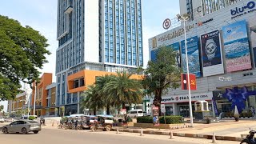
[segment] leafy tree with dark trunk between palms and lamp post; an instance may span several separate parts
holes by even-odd
[[[162,95],[168,90],[179,87],[181,69],[177,66],[175,58],[177,52],[172,48],[162,46],[158,48],[156,60],[148,62],[142,79],[142,86],[146,94],[154,95],[154,106],[160,108]],[[159,109],[160,111],[160,109]],[[160,113],[161,114],[161,111]]]

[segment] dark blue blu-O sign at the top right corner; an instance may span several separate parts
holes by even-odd
[[[246,4],[246,6],[236,7],[234,9],[230,10],[230,13],[232,15],[232,18],[240,17],[243,14],[247,14],[247,13],[256,11],[256,9],[254,9],[255,6],[256,6],[255,2],[250,1]]]

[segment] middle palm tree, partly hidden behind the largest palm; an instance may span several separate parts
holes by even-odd
[[[104,75],[96,78],[95,92],[98,99],[101,99],[106,107],[106,114],[110,114],[111,102],[108,101],[107,95],[104,93],[104,86],[114,78],[114,75]]]

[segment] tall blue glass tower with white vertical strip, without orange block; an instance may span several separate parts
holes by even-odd
[[[82,92],[68,93],[70,74],[143,66],[141,0],[58,0],[57,39],[56,106],[78,113]]]

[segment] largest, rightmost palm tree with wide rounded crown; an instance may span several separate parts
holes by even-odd
[[[118,72],[110,82],[104,86],[103,92],[107,95],[108,102],[113,106],[121,106],[125,109],[125,104],[142,102],[142,85],[136,79],[131,79],[126,72]]]

